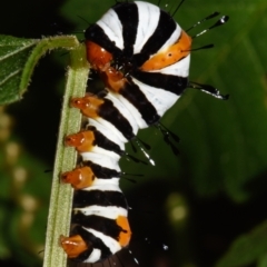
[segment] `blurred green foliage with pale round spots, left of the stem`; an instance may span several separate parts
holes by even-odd
[[[40,265],[40,258],[32,255],[42,249],[46,234],[49,176],[43,172],[44,165],[14,140],[10,132],[12,120],[2,109],[0,121],[0,258]],[[42,194],[36,194],[38,187]]]

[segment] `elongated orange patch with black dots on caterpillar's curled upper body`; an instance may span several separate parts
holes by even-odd
[[[191,38],[185,31],[181,31],[181,36],[175,44],[152,56],[141,66],[140,69],[142,71],[159,70],[176,63],[190,53],[190,48]]]

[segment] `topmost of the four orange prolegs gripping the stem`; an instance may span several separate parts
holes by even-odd
[[[82,98],[72,98],[70,106],[80,109],[81,113],[89,118],[97,118],[99,107],[103,103],[102,99],[87,95]]]

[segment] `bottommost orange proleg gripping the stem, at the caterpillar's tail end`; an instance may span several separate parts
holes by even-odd
[[[60,236],[59,240],[69,258],[76,258],[88,249],[87,244],[79,235],[72,237]]]

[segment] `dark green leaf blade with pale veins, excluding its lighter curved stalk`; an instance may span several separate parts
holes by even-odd
[[[0,36],[0,105],[20,98],[23,67],[38,41]]]

